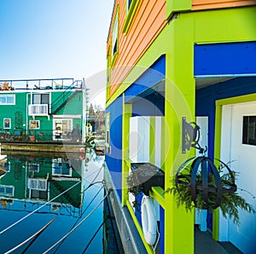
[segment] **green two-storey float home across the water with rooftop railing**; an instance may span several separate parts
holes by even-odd
[[[86,89],[73,78],[0,80],[0,136],[84,141]]]

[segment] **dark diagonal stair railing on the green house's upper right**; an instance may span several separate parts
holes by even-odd
[[[81,89],[82,88],[82,84],[83,82],[81,80],[75,80],[73,82],[73,84],[71,84],[70,86],[68,86],[65,91],[63,91],[63,93],[61,93],[61,95],[59,95],[55,101],[53,101],[51,103],[51,107],[50,107],[50,113],[56,113],[56,111],[61,108],[63,106],[64,103],[66,103],[66,101],[68,100],[68,98],[70,97],[70,92],[73,89]]]

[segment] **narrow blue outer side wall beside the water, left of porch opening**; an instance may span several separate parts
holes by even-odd
[[[110,114],[110,147],[111,154],[106,153],[105,159],[112,176],[114,187],[121,200],[122,188],[122,125],[123,125],[123,98],[118,99],[106,109]]]

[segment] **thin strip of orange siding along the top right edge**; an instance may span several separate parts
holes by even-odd
[[[192,0],[192,10],[217,9],[256,4],[255,0]]]

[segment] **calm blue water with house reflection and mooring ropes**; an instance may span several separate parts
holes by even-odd
[[[102,165],[94,154],[2,161],[0,253],[102,253]]]

